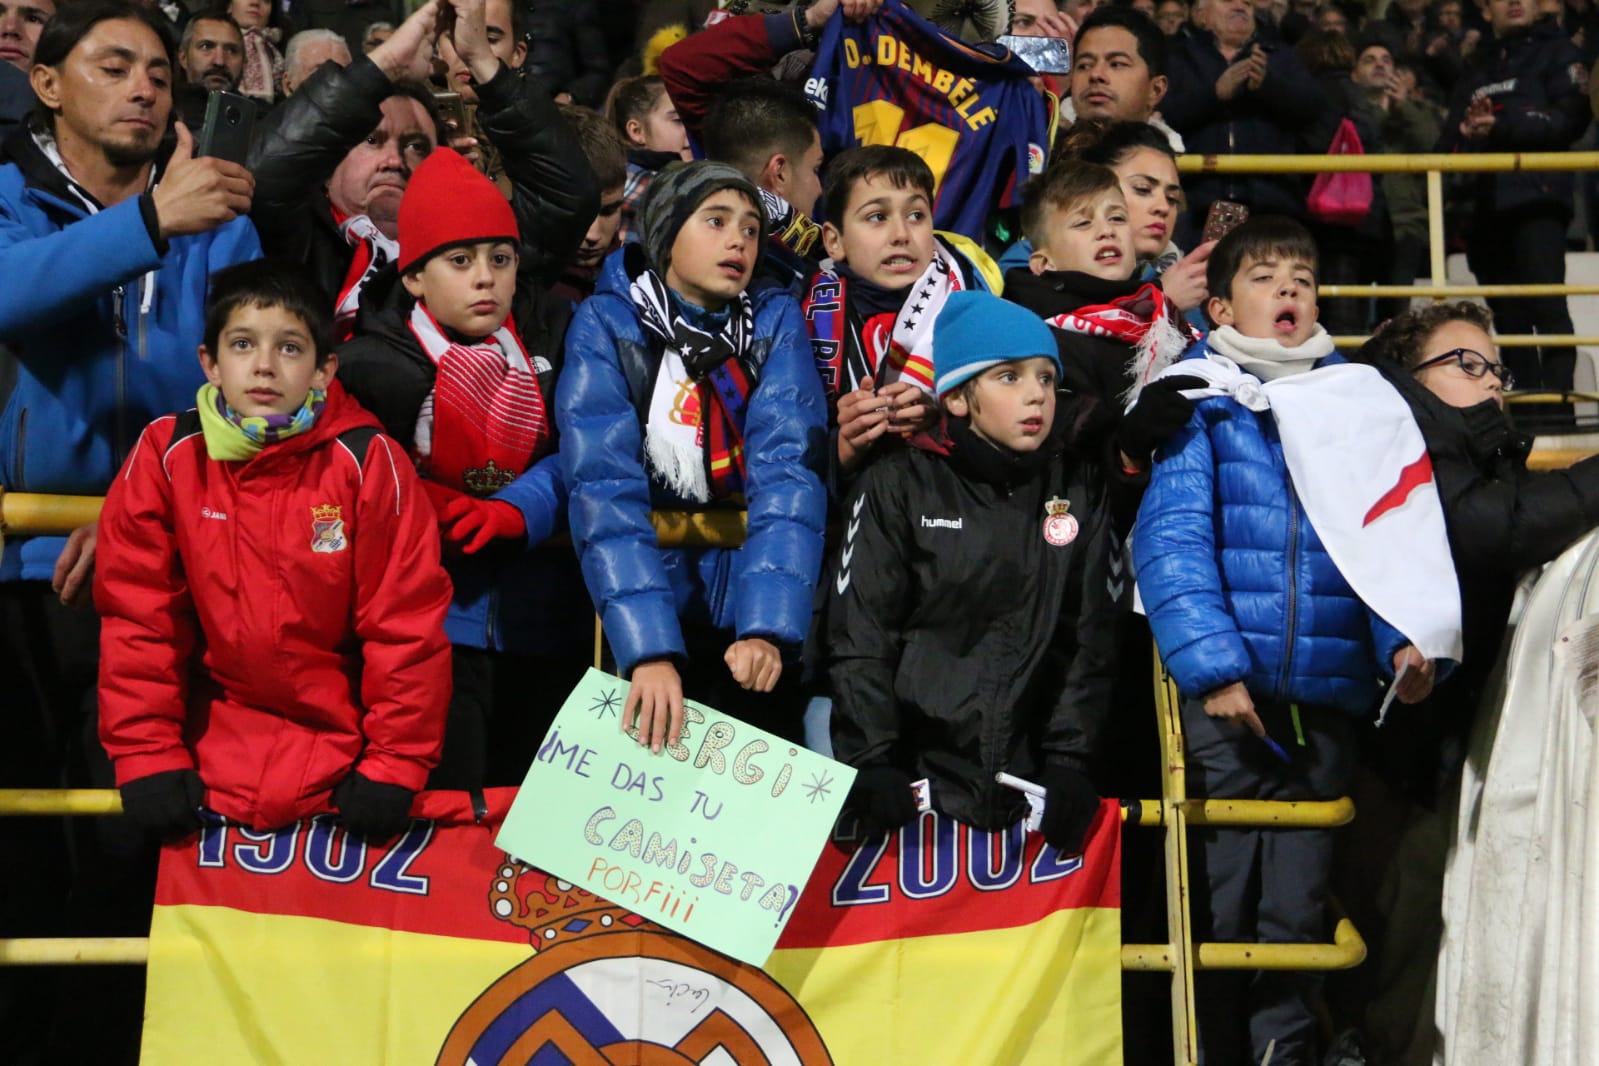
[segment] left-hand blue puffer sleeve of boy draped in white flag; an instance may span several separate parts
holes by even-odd
[[[1249,650],[1222,598],[1215,508],[1215,460],[1204,412],[1194,411],[1156,457],[1132,531],[1150,630],[1177,687],[1191,697],[1249,674]]]

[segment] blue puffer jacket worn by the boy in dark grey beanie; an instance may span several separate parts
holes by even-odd
[[[779,289],[753,292],[760,382],[744,430],[744,548],[662,550],[649,511],[692,510],[644,468],[643,420],[662,350],[646,337],[624,256],[612,253],[566,334],[556,385],[569,521],[617,668],[684,657],[678,619],[798,646],[822,566],[827,403],[804,318]]]

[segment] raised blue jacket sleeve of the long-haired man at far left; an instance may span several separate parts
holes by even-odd
[[[34,237],[19,209],[0,200],[0,278],[27,278],[0,286],[0,342],[83,315],[85,305],[161,265],[139,197],[48,237]]]

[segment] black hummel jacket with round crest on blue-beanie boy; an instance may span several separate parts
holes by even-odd
[[[847,505],[831,574],[835,753],[929,778],[937,809],[982,829],[1025,810],[995,772],[1087,769],[1110,710],[1103,475],[1060,428],[1014,479],[967,459],[963,447],[993,452],[969,433],[959,446],[923,438],[945,454],[878,459]],[[1070,510],[1046,526],[1052,500]]]

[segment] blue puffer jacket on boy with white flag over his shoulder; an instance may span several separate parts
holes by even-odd
[[[1204,344],[1188,358],[1204,358]],[[1132,534],[1138,591],[1186,697],[1242,681],[1255,700],[1361,714],[1406,638],[1334,566],[1289,483],[1270,412],[1201,400],[1158,452]]]

